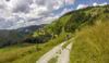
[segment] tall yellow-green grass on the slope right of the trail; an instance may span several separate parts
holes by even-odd
[[[109,22],[76,33],[70,63],[109,63]]]

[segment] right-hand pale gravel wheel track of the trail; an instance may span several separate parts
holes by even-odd
[[[71,47],[72,47],[72,42],[68,45],[65,49],[62,50],[62,53],[60,54],[57,63],[69,63],[69,55],[70,55]]]

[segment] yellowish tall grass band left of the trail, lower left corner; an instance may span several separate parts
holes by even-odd
[[[20,58],[26,56],[35,51],[36,51],[35,46],[32,46],[32,47],[21,48],[17,50],[1,53],[0,54],[0,63],[12,62]]]

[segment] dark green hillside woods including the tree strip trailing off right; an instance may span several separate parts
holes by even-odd
[[[66,22],[64,29],[68,33],[75,33],[76,29],[81,30],[81,28],[87,25],[94,25],[94,21],[99,17],[99,14],[92,15],[84,13],[83,11],[74,13],[71,18]]]

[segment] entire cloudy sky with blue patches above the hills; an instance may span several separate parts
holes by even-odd
[[[107,4],[109,0],[0,0],[0,29],[49,24],[66,12]]]

